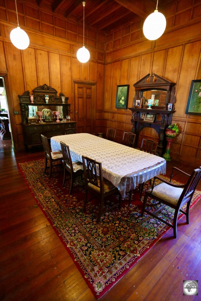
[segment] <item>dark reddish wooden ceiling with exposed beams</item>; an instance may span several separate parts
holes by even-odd
[[[83,24],[81,0],[36,0],[36,2],[39,8],[46,6],[54,14]],[[86,0],[85,2],[85,26],[109,33],[128,23],[145,19],[156,9],[157,0]],[[159,11],[161,8],[162,6],[158,6]]]

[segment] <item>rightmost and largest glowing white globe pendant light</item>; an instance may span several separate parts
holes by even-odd
[[[162,36],[166,27],[165,16],[158,12],[158,0],[154,13],[150,14],[143,25],[143,33],[148,40],[156,40]]]

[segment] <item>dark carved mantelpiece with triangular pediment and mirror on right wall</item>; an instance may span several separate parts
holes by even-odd
[[[171,124],[172,114],[174,111],[175,100],[175,83],[158,76],[154,73],[149,73],[134,85],[135,98],[133,99],[133,106],[129,108],[132,111],[131,123],[133,124],[132,132],[137,135],[137,140],[140,131],[145,127],[151,127],[159,135],[159,144],[157,153],[162,156],[165,153],[166,140],[165,131],[168,125]],[[159,100],[159,105],[153,105],[149,109],[146,102],[154,95]],[[136,107],[136,99],[142,99],[142,106]],[[168,110],[168,104],[172,105],[172,110]],[[145,119],[145,116],[152,115],[152,121]]]

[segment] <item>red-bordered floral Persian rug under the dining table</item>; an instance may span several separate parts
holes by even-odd
[[[121,210],[116,208],[106,213],[101,217],[99,224],[96,224],[99,208],[97,199],[90,201],[82,213],[82,178],[77,178],[73,195],[69,196],[70,181],[67,180],[65,187],[62,187],[63,171],[57,166],[53,167],[52,178],[49,180],[49,170],[46,174],[43,173],[44,161],[30,161],[18,165],[42,212],[71,254],[86,283],[99,299],[170,227],[146,213],[141,217],[142,201],[139,200],[138,189],[133,191],[130,207],[127,193],[126,198],[122,200]],[[144,191],[149,187],[147,183]],[[201,192],[196,191],[192,205],[200,198]],[[105,206],[111,206],[116,200],[115,195],[105,199]],[[151,202],[156,207],[160,206],[154,200]],[[170,221],[174,210],[166,206],[160,214]],[[173,229],[170,231],[173,236]]]

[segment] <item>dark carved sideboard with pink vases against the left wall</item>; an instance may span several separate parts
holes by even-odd
[[[45,95],[49,95],[48,103],[45,101]],[[42,145],[41,134],[50,139],[52,136],[76,133],[76,121],[56,122],[56,118],[53,118],[50,121],[43,119],[44,122],[40,123],[38,116],[35,114],[36,111],[39,112],[44,109],[50,111],[52,109],[51,111],[59,111],[64,118],[70,115],[71,105],[68,104],[68,97],[65,97],[64,103],[62,103],[61,96],[64,96],[62,93],[58,97],[54,88],[44,84],[33,89],[33,103],[30,101],[29,91],[18,96],[22,113],[24,143],[29,152],[31,147]],[[33,122],[28,123],[31,117],[33,117]],[[35,120],[34,117],[36,117]]]

